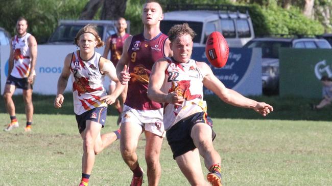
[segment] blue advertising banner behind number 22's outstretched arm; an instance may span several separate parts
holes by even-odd
[[[242,95],[262,95],[262,50],[260,48],[230,48],[226,65],[215,68],[208,62],[204,47],[194,47],[192,58],[205,61],[216,77],[227,87]],[[204,94],[213,94],[205,89]]]

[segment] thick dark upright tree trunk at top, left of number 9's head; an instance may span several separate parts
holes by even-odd
[[[127,0],[105,0],[102,10],[101,20],[115,20],[124,17],[126,12]]]

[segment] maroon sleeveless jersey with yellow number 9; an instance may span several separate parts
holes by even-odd
[[[167,36],[160,33],[152,40],[143,34],[133,36],[128,49],[130,81],[125,104],[137,110],[156,110],[162,104],[148,98],[148,83],[153,64],[164,57],[164,44]]]

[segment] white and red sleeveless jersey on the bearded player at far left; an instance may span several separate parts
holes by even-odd
[[[31,34],[19,38],[17,35],[12,40],[12,50],[14,51],[14,66],[10,75],[16,78],[27,78],[30,73],[31,57],[28,38]],[[35,71],[32,72],[36,74]]]

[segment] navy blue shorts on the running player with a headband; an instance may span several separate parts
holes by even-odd
[[[76,115],[77,127],[81,134],[86,128],[86,120],[98,122],[102,125],[102,128],[104,128],[106,115],[107,115],[107,107],[97,107],[88,110],[81,115],[77,114],[75,115]]]

